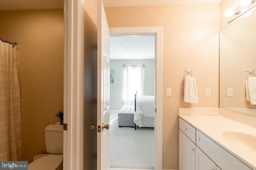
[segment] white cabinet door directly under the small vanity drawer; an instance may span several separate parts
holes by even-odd
[[[179,129],[179,170],[195,170],[196,145]]]

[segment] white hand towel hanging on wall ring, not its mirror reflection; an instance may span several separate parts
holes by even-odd
[[[194,77],[185,77],[184,78],[184,90],[183,90],[183,99],[184,102],[191,104],[198,104],[198,94],[196,88],[196,80]]]

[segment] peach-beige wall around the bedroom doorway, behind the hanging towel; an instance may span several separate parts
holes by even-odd
[[[163,169],[178,169],[178,107],[218,107],[219,4],[105,8],[109,27],[163,26]],[[191,68],[198,104],[184,103]],[[165,88],[172,96],[165,96]],[[210,87],[212,96],[205,96]]]

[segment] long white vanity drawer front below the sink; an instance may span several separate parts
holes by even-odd
[[[252,170],[198,130],[196,130],[196,145],[222,170]]]

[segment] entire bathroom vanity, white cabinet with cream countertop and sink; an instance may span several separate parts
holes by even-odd
[[[256,129],[220,115],[179,115],[179,170],[256,170]]]

